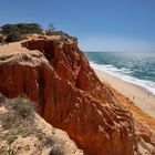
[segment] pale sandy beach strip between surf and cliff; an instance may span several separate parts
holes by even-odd
[[[148,95],[147,90],[105,72],[95,70],[95,73],[102,82],[110,84],[110,86],[128,97],[143,112],[155,118],[155,95]]]

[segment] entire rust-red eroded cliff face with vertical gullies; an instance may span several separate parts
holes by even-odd
[[[115,106],[113,94],[99,81],[75,41],[40,38],[22,45],[40,52],[0,62],[2,94],[25,94],[40,115],[66,131],[85,154],[134,154],[131,114]]]

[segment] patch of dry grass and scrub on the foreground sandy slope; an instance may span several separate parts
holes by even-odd
[[[11,145],[19,136],[34,136],[40,142],[40,146],[52,146],[54,140],[46,137],[46,134],[34,125],[33,103],[29,100],[18,97],[4,103],[4,97],[0,95],[0,102],[9,111],[0,113],[0,123],[6,131],[0,134],[1,141],[7,141]]]

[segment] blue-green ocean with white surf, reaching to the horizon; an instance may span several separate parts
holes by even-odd
[[[85,52],[85,55],[94,69],[155,94],[155,52]]]

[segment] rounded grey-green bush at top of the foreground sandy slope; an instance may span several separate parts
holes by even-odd
[[[28,100],[18,97],[14,101],[13,108],[18,112],[19,115],[21,115],[22,117],[27,117],[32,114],[33,104],[32,104],[32,102],[30,102]]]

